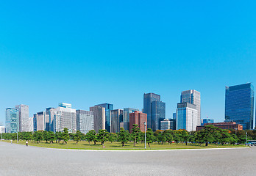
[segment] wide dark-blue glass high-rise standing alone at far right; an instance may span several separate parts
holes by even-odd
[[[243,125],[243,130],[253,129],[254,87],[251,83],[226,87],[225,122]]]

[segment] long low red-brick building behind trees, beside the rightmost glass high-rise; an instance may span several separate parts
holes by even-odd
[[[229,129],[243,130],[243,125],[237,124],[236,122],[217,122],[217,123],[205,123],[204,125],[196,126],[196,131],[202,130],[202,128],[204,128],[206,125],[213,125],[224,130],[229,130]]]

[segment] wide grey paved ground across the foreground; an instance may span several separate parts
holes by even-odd
[[[256,147],[87,151],[0,142],[0,175],[256,175]]]

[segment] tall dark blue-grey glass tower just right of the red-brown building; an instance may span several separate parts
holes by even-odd
[[[144,93],[143,113],[147,114],[148,128],[152,128],[152,131],[160,130],[160,121],[166,118],[166,103],[160,100],[160,95]]]

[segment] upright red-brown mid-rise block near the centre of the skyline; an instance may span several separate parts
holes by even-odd
[[[137,124],[141,131],[145,131],[144,122],[147,120],[147,114],[141,111],[135,111],[129,114],[129,133],[132,133],[132,125]],[[146,124],[147,129],[147,124]]]

